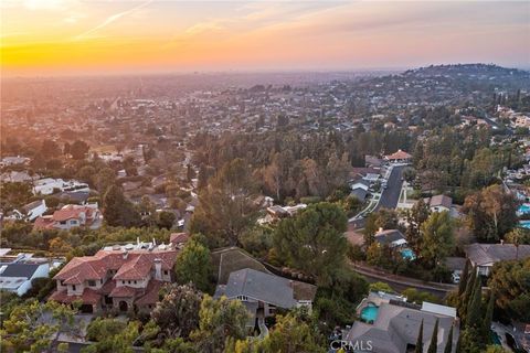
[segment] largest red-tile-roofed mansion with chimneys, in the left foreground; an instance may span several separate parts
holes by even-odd
[[[57,275],[57,290],[49,300],[83,303],[82,312],[115,309],[148,312],[158,291],[174,278],[178,250],[99,250],[94,256],[74,257]]]

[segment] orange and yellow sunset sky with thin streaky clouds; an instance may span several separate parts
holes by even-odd
[[[530,67],[530,1],[0,0],[1,73]]]

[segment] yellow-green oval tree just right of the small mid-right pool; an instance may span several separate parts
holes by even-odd
[[[434,212],[422,225],[420,255],[434,268],[454,247],[453,220],[447,211]]]

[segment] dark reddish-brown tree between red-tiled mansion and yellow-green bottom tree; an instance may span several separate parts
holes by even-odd
[[[160,328],[163,340],[188,338],[199,328],[199,310],[202,293],[192,285],[172,285],[151,312],[151,319]]]

